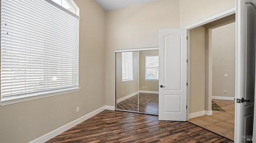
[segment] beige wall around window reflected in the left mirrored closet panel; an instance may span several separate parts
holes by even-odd
[[[122,82],[122,53],[116,53],[116,98],[117,100],[138,92],[138,51],[132,52],[133,80]]]

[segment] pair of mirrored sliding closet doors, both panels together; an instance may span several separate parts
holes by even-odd
[[[158,115],[158,48],[116,52],[116,110]]]

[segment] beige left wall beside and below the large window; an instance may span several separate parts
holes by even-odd
[[[74,1],[81,17],[81,90],[0,106],[0,143],[28,143],[105,105],[105,12],[94,0]]]

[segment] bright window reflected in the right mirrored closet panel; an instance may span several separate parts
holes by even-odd
[[[159,56],[146,55],[146,80],[158,80]]]

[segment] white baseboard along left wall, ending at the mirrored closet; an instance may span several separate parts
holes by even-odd
[[[38,137],[37,139],[34,139],[33,141],[30,141],[29,143],[44,143],[53,137],[59,135],[60,133],[63,133],[64,131],[67,131],[68,129],[74,127],[75,125],[78,125],[79,123],[82,123],[83,121],[91,118],[92,116],[95,116],[96,114],[99,114],[100,112],[104,110],[114,110],[114,106],[103,106],[101,108],[98,108],[97,110],[94,110],[93,112],[90,112],[74,121],[71,121],[70,123],[67,123],[66,125],[63,125],[59,127],[58,129],[54,129],[53,131],[46,133],[45,135],[42,135],[41,137]]]

